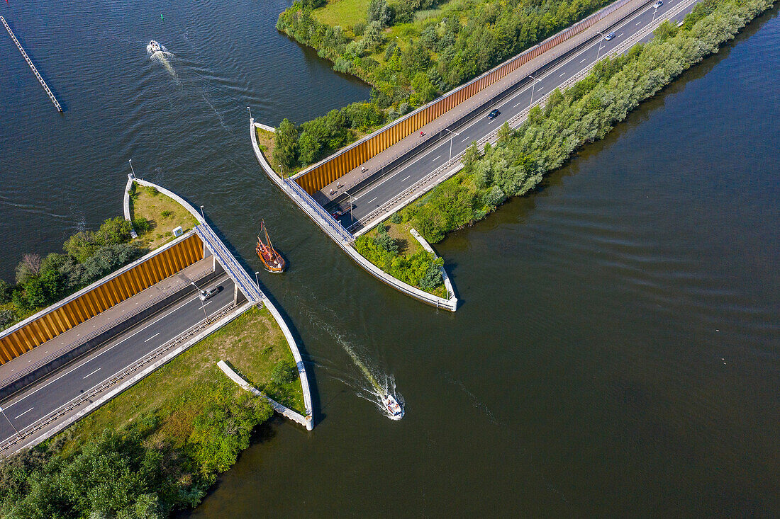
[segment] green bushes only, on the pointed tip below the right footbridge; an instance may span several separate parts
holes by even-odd
[[[402,222],[400,214],[393,215],[393,218],[394,223]],[[358,237],[355,249],[387,274],[413,287],[434,293],[444,286],[440,268],[444,260],[426,250],[419,250],[410,256],[400,253],[398,242],[388,234],[385,224],[379,224],[376,236]]]

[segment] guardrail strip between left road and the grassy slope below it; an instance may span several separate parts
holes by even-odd
[[[136,372],[138,369],[144,367],[144,365],[148,365],[155,359],[160,358],[167,351],[170,351],[172,348],[175,348],[176,346],[182,344],[190,337],[193,337],[193,335],[207,328],[208,325],[210,325],[211,323],[215,323],[215,321],[222,319],[222,317],[227,315],[234,308],[236,308],[234,305],[229,305],[225,307],[225,309],[222,309],[219,312],[215,312],[215,314],[208,316],[206,320],[203,320],[200,323],[197,323],[194,327],[191,327],[189,330],[186,330],[183,334],[179,335],[179,337],[176,337],[175,339],[168,341],[167,343],[163,344],[160,348],[157,348],[156,350],[152,351],[149,355],[145,356],[144,358],[138,359],[136,362],[133,362],[133,364],[128,365],[126,368],[115,373],[113,376],[104,380],[103,382],[93,387],[92,389],[88,390],[87,392],[80,394],[78,397],[69,401],[67,404],[64,404],[62,407],[55,409],[54,411],[51,411],[48,415],[45,415],[44,417],[39,418],[36,422],[27,425],[27,427],[24,427],[23,429],[19,429],[18,435],[12,436],[11,438],[3,440],[2,443],[0,443],[0,453],[2,453],[5,450],[8,450],[10,447],[13,447],[17,443],[23,442],[23,440],[29,438],[34,433],[38,433],[42,429],[45,429],[48,425],[51,424],[51,422],[54,422],[58,418],[61,418],[63,415],[66,415],[70,411],[73,411],[74,408],[79,407],[84,402],[94,399],[95,397],[97,397],[98,394],[101,394],[101,392],[105,391],[109,387],[114,386],[116,383],[121,382],[122,379],[126,378],[133,372]]]

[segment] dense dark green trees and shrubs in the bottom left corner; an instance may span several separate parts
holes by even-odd
[[[160,418],[146,416],[75,449],[66,434],[2,461],[0,516],[162,519],[195,507],[272,414],[230,381],[200,397],[193,422],[178,425],[188,429],[183,443],[170,430],[161,436]]]

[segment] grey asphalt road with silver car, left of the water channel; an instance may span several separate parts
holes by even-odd
[[[222,287],[222,290],[204,304],[197,294],[187,295],[86,357],[76,359],[2,402],[5,416],[0,416],[0,443],[16,434],[11,424],[23,429],[37,422],[204,321],[207,315],[232,305],[233,282],[227,275],[200,288],[211,287]]]

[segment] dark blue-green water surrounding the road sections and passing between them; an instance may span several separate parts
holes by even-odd
[[[0,34],[0,276],[121,214],[129,158],[204,204],[250,267],[261,217],[289,260],[261,282],[300,335],[317,426],[264,426],[191,515],[776,512],[778,9],[437,245],[452,314],[360,270],[261,173],[247,105],[276,125],[370,95],[276,32],[286,5],[0,9],[66,108]],[[360,397],[348,349],[405,418]]]

